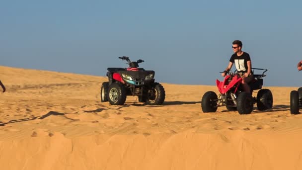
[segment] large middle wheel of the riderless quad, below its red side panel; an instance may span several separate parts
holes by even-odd
[[[109,85],[107,98],[112,105],[123,105],[126,101],[127,93],[124,85],[113,83]]]

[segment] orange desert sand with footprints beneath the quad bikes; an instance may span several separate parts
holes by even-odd
[[[302,170],[297,87],[265,87],[273,108],[239,115],[202,112],[214,82],[163,83],[163,105],[113,106],[100,102],[105,77],[1,66],[0,80],[1,170]]]

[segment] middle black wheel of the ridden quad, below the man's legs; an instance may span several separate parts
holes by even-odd
[[[239,114],[249,114],[253,111],[254,101],[249,92],[243,91],[237,97],[237,110]]]

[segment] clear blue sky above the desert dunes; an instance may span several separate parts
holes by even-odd
[[[0,65],[105,76],[143,59],[158,82],[215,85],[242,40],[265,85],[302,86],[301,0],[1,0]],[[233,66],[234,68],[234,66]]]

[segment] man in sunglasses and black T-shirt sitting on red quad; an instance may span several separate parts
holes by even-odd
[[[235,63],[236,69],[242,78],[241,83],[243,85],[244,91],[250,92],[250,87],[248,83],[254,79],[251,70],[252,68],[251,59],[248,53],[241,51],[242,50],[241,41],[235,40],[233,41],[232,44],[233,44],[232,49],[234,51],[234,54],[230,57],[227,69],[224,71],[224,73],[222,73],[222,76],[225,77],[227,73],[230,71],[230,69],[232,68],[233,64]]]

